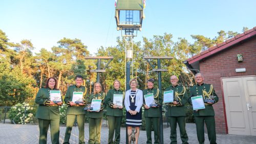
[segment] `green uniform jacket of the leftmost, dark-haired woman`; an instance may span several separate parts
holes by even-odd
[[[58,119],[59,107],[57,105],[49,106],[50,90],[58,90],[51,88],[40,88],[36,94],[35,103],[38,104],[35,117],[40,119]]]

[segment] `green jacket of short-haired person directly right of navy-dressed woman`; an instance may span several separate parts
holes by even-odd
[[[158,95],[157,95],[157,91],[159,91]],[[144,109],[144,116],[145,117],[160,117],[160,114],[162,114],[162,113],[160,113],[159,106],[162,105],[162,102],[163,102],[161,90],[159,90],[158,88],[144,89],[143,90],[143,105],[145,105],[144,95],[150,94],[150,93],[153,93],[154,97],[156,97],[154,99],[155,99],[156,104],[158,104],[158,107],[156,107],[156,108],[151,107],[149,109]]]

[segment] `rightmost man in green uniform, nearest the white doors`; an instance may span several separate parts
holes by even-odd
[[[196,128],[197,128],[197,139],[199,143],[204,143],[204,124],[208,132],[208,138],[211,144],[216,143],[216,130],[215,130],[215,112],[212,107],[213,104],[219,101],[217,94],[215,93],[214,87],[211,84],[205,84],[204,77],[198,73],[195,75],[197,85],[190,88],[190,97],[188,99],[191,102],[191,97],[202,95],[204,99],[205,109],[194,110],[193,114],[195,117]],[[211,102],[209,101],[211,100]]]

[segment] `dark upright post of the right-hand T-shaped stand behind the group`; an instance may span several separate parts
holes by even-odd
[[[157,68],[161,69],[160,59],[157,59]],[[162,90],[162,83],[161,83],[161,71],[158,71],[158,87]],[[159,107],[160,110],[160,121],[159,121],[159,135],[160,135],[160,143],[163,143],[163,116],[162,116],[162,106]]]

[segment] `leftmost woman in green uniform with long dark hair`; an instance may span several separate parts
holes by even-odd
[[[59,107],[62,102],[55,104],[50,99],[51,90],[58,90],[57,80],[48,78],[46,86],[40,88],[36,94],[35,103],[38,104],[36,118],[39,126],[39,144],[47,143],[47,132],[49,125],[51,128],[51,141],[53,144],[59,143]]]

